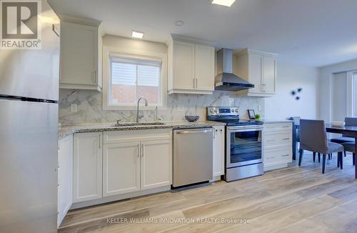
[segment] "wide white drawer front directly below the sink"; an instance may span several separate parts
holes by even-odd
[[[104,132],[104,144],[171,139],[171,129],[148,129]]]

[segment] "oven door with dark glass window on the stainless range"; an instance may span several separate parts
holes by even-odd
[[[227,168],[263,162],[263,127],[228,127],[226,134]]]

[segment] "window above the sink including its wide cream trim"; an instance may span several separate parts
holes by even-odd
[[[104,47],[103,109],[135,110],[140,97],[149,104],[143,110],[163,109],[167,99],[166,56]]]

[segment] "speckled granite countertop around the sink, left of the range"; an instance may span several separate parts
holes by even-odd
[[[62,125],[59,127],[59,138],[66,137],[74,133],[85,133],[85,132],[104,132],[104,131],[123,131],[123,130],[142,130],[142,129],[188,129],[197,127],[212,127],[212,126],[222,126],[226,125],[221,122],[162,122],[162,125],[137,125],[128,126],[126,124],[131,124],[132,122],[125,122],[118,126],[115,123],[106,124],[71,124]],[[133,123],[134,124],[134,123]]]

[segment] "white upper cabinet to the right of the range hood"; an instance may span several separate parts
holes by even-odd
[[[244,49],[235,61],[234,74],[254,84],[240,94],[269,97],[276,93],[276,54]]]

